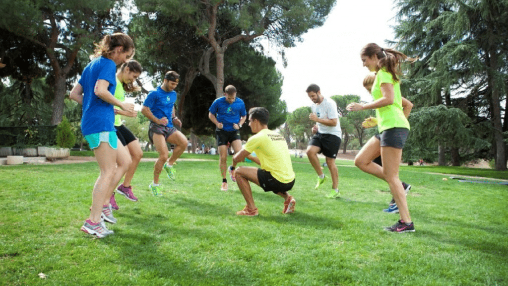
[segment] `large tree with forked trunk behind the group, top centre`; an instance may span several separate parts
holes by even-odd
[[[267,37],[291,47],[311,28],[323,25],[335,0],[135,0],[141,11],[162,13],[192,25],[207,43],[199,71],[215,97],[224,93],[226,50],[237,42]],[[215,69],[215,71],[213,71]]]

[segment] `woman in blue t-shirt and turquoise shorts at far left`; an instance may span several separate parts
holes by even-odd
[[[70,95],[83,97],[81,132],[93,150],[101,171],[93,186],[90,216],[81,231],[99,238],[113,233],[106,228],[103,219],[116,222],[109,198],[116,187],[114,178],[123,176],[131,161],[124,148],[117,149],[113,105],[133,112],[134,104],[121,102],[113,94],[116,89],[116,66],[132,58],[134,51],[134,42],[128,35],[115,33],[104,36],[101,42],[96,44],[94,55],[97,58],[85,67]]]

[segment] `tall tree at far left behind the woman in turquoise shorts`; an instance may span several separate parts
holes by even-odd
[[[119,23],[119,10],[113,0],[0,0],[4,17],[0,17],[0,28],[24,38],[45,50],[46,62],[50,67],[49,83],[53,87],[51,124],[61,121],[66,83],[79,73],[75,65],[78,52],[85,44],[98,41],[108,26]],[[8,16],[5,16],[8,15]]]

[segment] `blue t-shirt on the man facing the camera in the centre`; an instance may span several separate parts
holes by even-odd
[[[217,122],[224,125],[223,130],[226,131],[236,131],[236,129],[233,128],[233,125],[240,122],[240,117],[247,115],[247,111],[245,111],[245,104],[243,103],[243,100],[238,97],[235,101],[233,101],[233,103],[229,103],[225,96],[217,98],[213,101],[212,106],[210,106],[208,111],[215,116]]]

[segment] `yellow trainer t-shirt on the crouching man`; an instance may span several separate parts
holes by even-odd
[[[277,181],[287,184],[295,179],[288,144],[278,133],[263,129],[247,140],[245,151],[256,152],[261,168],[269,171]]]

